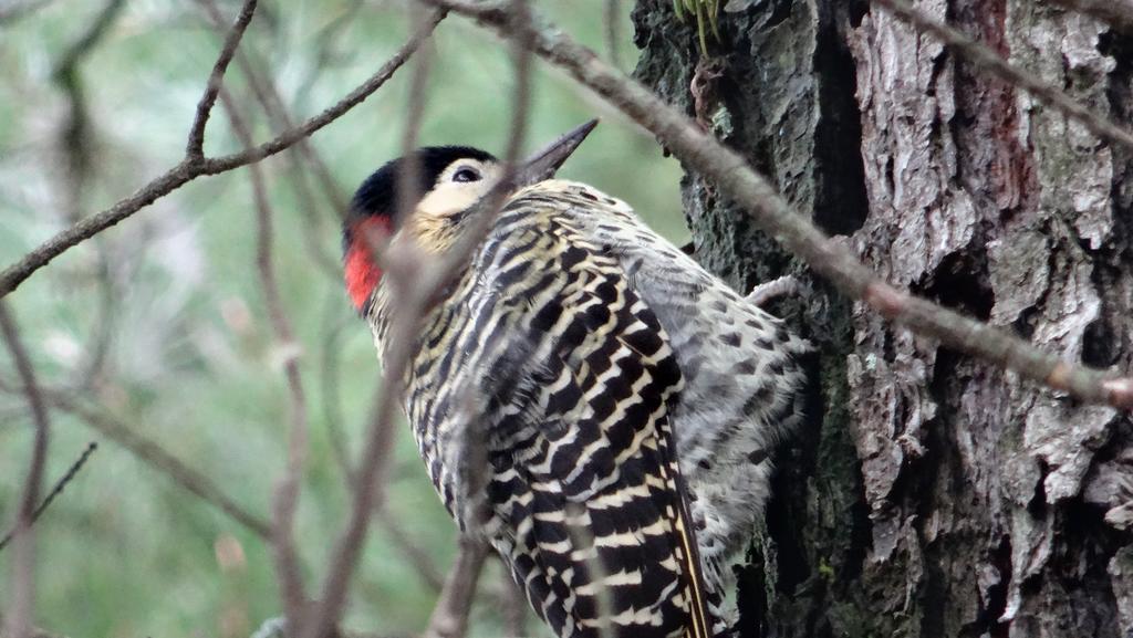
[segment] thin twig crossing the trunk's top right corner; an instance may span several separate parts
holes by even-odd
[[[928,14],[912,7],[904,0],[872,0],[894,16],[912,24],[920,31],[932,34],[954,53],[962,56],[969,62],[997,76],[998,78],[1030,93],[1036,100],[1060,111],[1067,118],[1081,124],[1090,133],[1114,144],[1121,144],[1133,151],[1133,133],[1114,124],[1108,118],[1091,111],[1067,95],[1060,88],[1043,82],[1033,74],[1024,71],[1007,62],[990,48],[969,37],[959,29],[939,23]]]

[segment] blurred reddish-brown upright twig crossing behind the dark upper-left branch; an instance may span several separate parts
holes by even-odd
[[[246,148],[250,148],[254,144],[252,129],[231,94],[221,91],[220,99],[237,139]],[[283,357],[283,371],[287,376],[288,397],[291,403],[287,469],[283,478],[275,486],[272,547],[275,552],[275,571],[282,589],[288,627],[300,627],[300,616],[306,607],[307,597],[304,593],[303,573],[299,570],[299,558],[295,548],[293,528],[295,512],[299,504],[303,468],[307,458],[307,400],[303,391],[303,378],[299,375],[299,346],[295,340],[295,331],[291,329],[291,320],[283,305],[283,296],[280,294],[275,267],[272,263],[274,244],[272,219],[274,213],[267,196],[261,164],[248,164],[248,173],[252,179],[252,198],[256,211],[256,272],[264,295],[264,305],[267,307],[269,323],[275,337],[275,348]]]

